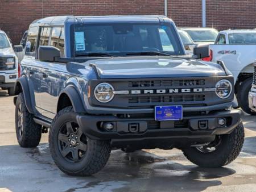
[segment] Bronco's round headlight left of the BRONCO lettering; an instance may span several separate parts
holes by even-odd
[[[108,103],[114,97],[114,88],[107,83],[98,84],[94,89],[95,98],[101,103]]]

